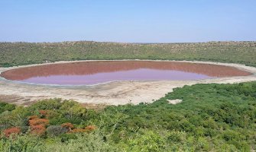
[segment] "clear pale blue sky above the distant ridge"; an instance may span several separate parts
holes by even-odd
[[[251,41],[255,7],[255,0],[0,0],[0,41]]]

